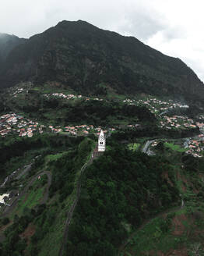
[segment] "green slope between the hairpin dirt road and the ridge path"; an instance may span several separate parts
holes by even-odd
[[[36,227],[31,243],[27,247],[28,255],[45,255],[50,251],[50,255],[58,254],[62,242],[64,225],[67,212],[76,198],[76,183],[79,179],[79,172],[83,164],[90,158],[90,152],[95,146],[93,140],[86,137],[81,143],[74,145],[79,139],[72,140],[72,150],[47,154],[42,158],[37,158],[33,168],[46,168],[52,173],[52,183],[49,190],[49,200],[51,204],[40,204],[40,200],[47,186],[47,175],[40,176],[40,180],[35,180],[28,192],[22,197],[15,213],[12,215],[14,223],[6,229],[6,239],[2,244],[2,254],[8,255],[12,251],[13,255],[19,255],[25,249],[24,243],[19,234],[23,233],[28,223],[33,222]],[[70,141],[69,141],[70,143]],[[55,151],[61,148],[55,148]],[[47,151],[47,153],[49,153]],[[25,221],[23,221],[23,219]],[[22,224],[23,223],[23,224]],[[13,243],[9,244],[10,237],[14,236]]]

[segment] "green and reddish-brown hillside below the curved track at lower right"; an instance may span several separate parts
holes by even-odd
[[[195,217],[196,214],[198,217]],[[193,225],[192,225],[193,223]],[[169,254],[171,251],[188,251],[188,255],[195,254],[197,249],[203,251],[204,225],[203,213],[189,214],[185,208],[183,212],[172,210],[167,215],[162,215],[150,220],[142,229],[132,234],[128,244],[121,255],[148,255],[151,251],[155,254]],[[194,254],[193,254],[194,253]]]

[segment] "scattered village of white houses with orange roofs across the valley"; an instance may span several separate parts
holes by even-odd
[[[28,90],[23,87],[17,87],[15,90],[10,91],[12,97],[16,97],[18,94],[28,93]],[[90,98],[83,95],[75,94],[64,94],[64,93],[51,93],[44,94],[45,98],[59,98],[63,100],[83,100],[83,101],[108,101],[104,98]],[[174,102],[173,100],[160,100],[152,96],[148,96],[143,99],[115,99],[115,101],[121,101],[121,104],[127,105],[137,105],[137,106],[146,106],[150,112],[157,118],[157,126],[164,130],[185,130],[185,129],[195,129],[199,128],[200,134],[198,137],[189,139],[188,145],[185,144],[186,154],[193,155],[194,157],[202,157],[202,144],[204,140],[204,135],[202,133],[204,129],[204,123],[195,123],[193,119],[188,118],[188,116],[172,115],[172,110],[188,109],[188,105],[181,104],[180,102]],[[170,112],[170,115],[167,113]],[[202,119],[202,116],[200,116]],[[140,126],[139,123],[127,124],[126,127],[136,130]],[[104,133],[112,133],[115,130],[118,130],[119,126],[107,127],[104,130]],[[31,119],[26,119],[25,117],[18,115],[16,113],[9,113],[3,116],[0,116],[0,136],[6,137],[8,135],[15,135],[18,137],[33,137],[35,134],[51,132],[51,133],[64,133],[69,136],[87,136],[90,133],[99,135],[101,127],[81,124],[81,125],[72,125],[67,126],[54,126],[52,124],[39,123]]]

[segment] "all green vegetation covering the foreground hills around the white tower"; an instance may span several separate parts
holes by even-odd
[[[125,147],[118,144],[127,138],[127,134],[131,134],[129,141],[132,143],[125,144]],[[174,236],[172,222],[174,216],[204,211],[204,205],[200,203],[204,199],[202,180],[198,179],[198,172],[204,165],[202,159],[184,155],[179,144],[171,140],[155,147],[156,156],[143,155],[139,147],[151,138],[136,138],[134,134],[132,130],[122,129],[113,133],[107,140],[108,150],[86,168],[81,197],[69,226],[65,254],[117,255],[118,248],[130,236],[132,239],[122,251],[127,255],[133,255],[134,251],[141,256],[149,251],[165,253],[171,248],[176,250],[186,241],[189,248],[199,241],[197,237],[190,243],[185,233]],[[33,182],[9,216],[14,223],[9,223],[5,231],[6,238],[0,247],[3,256],[9,251],[22,254],[25,248],[25,255],[45,256],[47,251],[51,256],[58,254],[67,212],[76,198],[80,169],[90,158],[94,140],[93,136],[70,138],[55,134],[16,141],[2,140],[2,149],[8,150],[2,155],[2,165],[10,166],[10,170],[18,168],[25,152],[25,162],[40,155],[33,162],[28,176],[20,181],[24,186],[37,172],[44,170],[52,174],[45,205],[39,204],[47,186],[47,175]],[[185,169],[181,165],[185,165]],[[16,187],[20,182],[16,181]],[[197,195],[195,190],[200,193]],[[185,201],[185,208],[176,211],[174,208],[181,204],[181,198]],[[170,208],[175,215],[159,216],[139,228],[146,219]],[[19,235],[31,222],[35,231],[27,246]],[[8,219],[2,219],[2,225],[5,223]],[[183,225],[192,229],[190,222]],[[13,242],[9,244],[11,239]]]

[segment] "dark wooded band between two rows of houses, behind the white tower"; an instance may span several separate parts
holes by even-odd
[[[65,120],[77,123],[86,122],[94,125],[111,124],[128,120],[135,123],[139,119],[142,122],[155,123],[156,119],[145,107],[124,105],[117,101],[83,101],[76,105],[69,105],[65,114]]]

